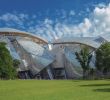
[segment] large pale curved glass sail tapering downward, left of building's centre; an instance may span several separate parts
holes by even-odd
[[[32,56],[34,62],[37,63],[35,66],[38,72],[54,61],[54,57],[37,43],[24,39],[17,39],[17,41]]]

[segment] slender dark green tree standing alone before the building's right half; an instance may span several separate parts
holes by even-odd
[[[83,47],[80,52],[75,52],[76,59],[83,69],[83,78],[86,77],[86,72],[89,70],[89,64],[92,58],[92,53],[88,47]]]

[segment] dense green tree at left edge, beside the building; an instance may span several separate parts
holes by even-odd
[[[16,69],[13,67],[13,59],[10,52],[6,48],[6,43],[0,43],[0,78],[14,79],[16,77]]]

